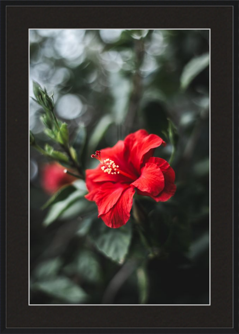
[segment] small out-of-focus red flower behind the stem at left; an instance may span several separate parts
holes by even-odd
[[[48,194],[53,194],[62,186],[76,180],[73,176],[64,173],[65,168],[57,162],[44,165],[42,169],[42,188]]]

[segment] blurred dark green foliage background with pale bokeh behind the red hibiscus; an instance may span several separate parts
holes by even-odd
[[[30,147],[30,304],[208,304],[209,30],[30,30],[34,97],[32,80],[54,91],[84,169],[142,128],[167,142],[154,156],[171,158],[177,191],[135,196],[119,229],[97,218],[82,180],[41,209],[49,160]],[[30,99],[36,141],[59,149],[41,115]]]

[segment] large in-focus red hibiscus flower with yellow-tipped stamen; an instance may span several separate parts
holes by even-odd
[[[164,159],[152,157],[161,144],[166,145],[162,138],[139,130],[113,147],[91,155],[100,164],[86,170],[89,193],[85,197],[96,202],[98,217],[107,226],[117,228],[126,224],[135,191],[157,202],[174,195],[174,170]]]

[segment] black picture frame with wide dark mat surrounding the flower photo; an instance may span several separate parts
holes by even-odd
[[[0,332],[239,333],[238,1],[1,1],[0,15]],[[59,27],[211,29],[210,306],[28,305],[28,29]]]

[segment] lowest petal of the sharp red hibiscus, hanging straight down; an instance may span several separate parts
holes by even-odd
[[[107,226],[118,228],[127,223],[130,219],[134,193],[134,188],[128,186],[115,205],[107,213],[99,215]]]

